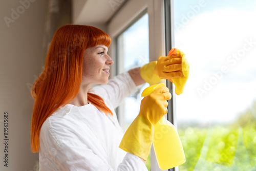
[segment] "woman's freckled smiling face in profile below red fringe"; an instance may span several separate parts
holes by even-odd
[[[83,53],[83,83],[106,84],[109,81],[110,66],[114,63],[107,54],[108,47],[97,45],[90,47]]]

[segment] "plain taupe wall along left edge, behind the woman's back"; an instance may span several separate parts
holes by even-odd
[[[22,5],[20,2],[27,2]],[[30,4],[29,4],[30,3]],[[0,1],[0,170],[36,170],[30,126],[33,100],[27,83],[41,71],[48,1]],[[14,15],[15,12],[20,14]],[[13,14],[12,14],[13,13]],[[9,27],[5,17],[12,20]],[[4,166],[4,112],[8,112],[8,167]]]

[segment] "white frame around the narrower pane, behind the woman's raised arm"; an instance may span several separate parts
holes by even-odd
[[[164,0],[128,0],[107,25],[108,34],[112,37],[112,45],[108,53],[114,61],[117,58],[116,37],[133,24],[134,20],[145,10],[148,13],[150,61],[165,55]],[[113,75],[111,76],[117,74],[116,68],[112,68]],[[154,150],[151,153],[151,170],[161,170],[158,167]]]

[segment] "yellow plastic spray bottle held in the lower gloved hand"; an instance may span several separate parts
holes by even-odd
[[[141,96],[147,96],[162,86],[165,86],[165,84],[159,83],[150,86],[142,92]],[[166,120],[164,116],[155,124],[153,145],[159,168],[162,170],[185,163],[186,159],[180,137],[174,125]]]

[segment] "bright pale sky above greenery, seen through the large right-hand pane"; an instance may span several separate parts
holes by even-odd
[[[256,3],[184,2],[174,1],[175,47],[190,73],[177,96],[177,118],[236,120],[256,100]]]

